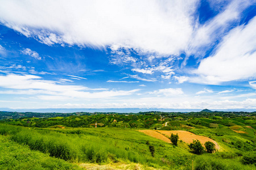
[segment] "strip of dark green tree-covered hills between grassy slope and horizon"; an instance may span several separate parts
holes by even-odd
[[[48,128],[51,126],[89,128],[118,127],[118,128],[147,128],[169,130],[189,129],[204,126],[254,125],[256,113],[248,112],[139,112],[139,113],[16,113],[0,112],[2,120],[11,125]],[[168,123],[168,125],[166,124]],[[166,125],[165,125],[166,124]],[[170,126],[169,126],[170,125]],[[167,126],[167,127],[163,127]]]

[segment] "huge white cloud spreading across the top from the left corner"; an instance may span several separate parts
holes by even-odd
[[[0,20],[44,44],[111,44],[179,54],[192,35],[197,1],[2,1]],[[134,26],[136,25],[136,26]]]

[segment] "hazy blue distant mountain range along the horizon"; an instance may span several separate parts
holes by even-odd
[[[138,113],[138,112],[213,112],[209,109],[163,109],[163,108],[44,108],[44,109],[10,109],[0,108],[0,111],[7,112],[38,112],[38,113],[74,113],[74,112],[117,112],[117,113]],[[255,109],[218,109],[224,112],[255,112]]]

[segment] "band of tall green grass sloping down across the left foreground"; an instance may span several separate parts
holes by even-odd
[[[86,131],[81,130],[79,133],[78,130],[67,130],[65,133],[47,129],[15,130],[16,127],[11,125],[0,125],[0,133],[10,135],[12,141],[71,162],[104,163],[113,160],[117,162],[118,159],[142,164],[159,162],[151,158],[149,151],[148,154],[140,154],[134,150],[125,150],[120,140],[118,142],[111,137],[108,139],[106,135],[88,135]]]

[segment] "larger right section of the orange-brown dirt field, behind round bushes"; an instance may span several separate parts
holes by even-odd
[[[193,134],[189,131],[184,131],[184,130],[171,130],[171,131],[168,131],[168,130],[157,130],[159,131],[159,133],[162,133],[164,135],[167,135],[168,137],[171,137],[171,134],[178,134],[179,135],[179,139],[182,140],[183,142],[185,143],[192,143],[193,140],[199,140],[202,145],[204,145],[205,142],[212,142],[215,144],[215,148],[218,150],[220,149],[220,146],[218,146],[218,143],[216,141],[213,141],[213,139],[210,139],[208,137],[203,137],[203,136],[200,136],[200,135],[196,135],[196,134]]]

